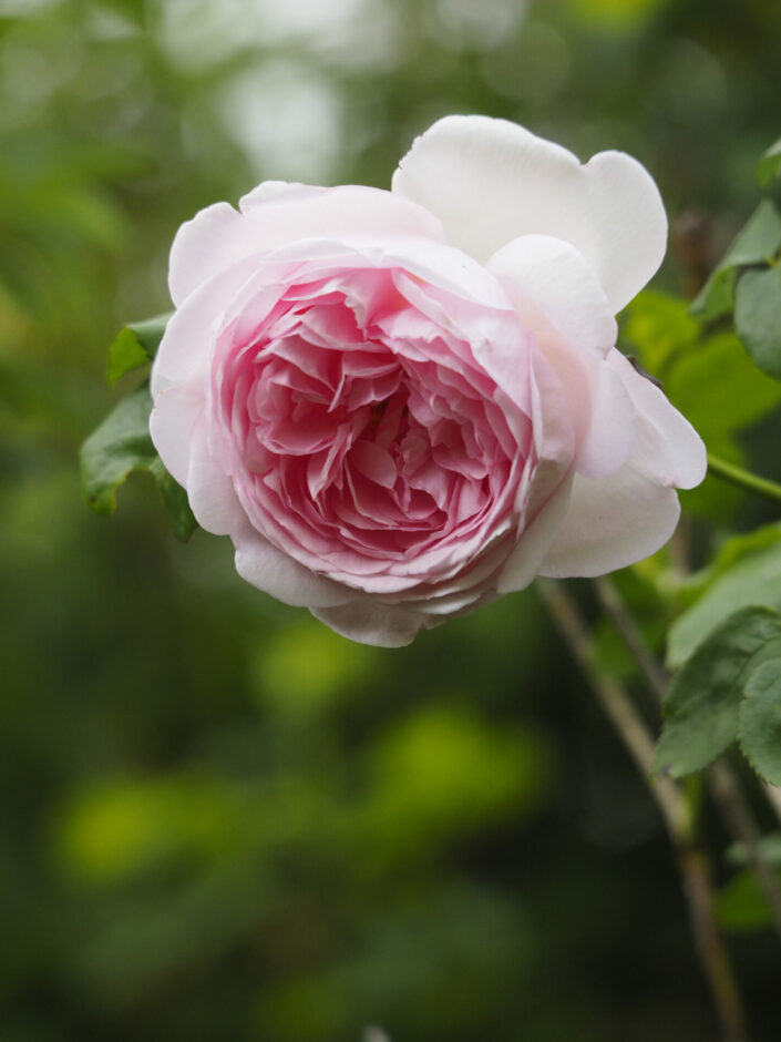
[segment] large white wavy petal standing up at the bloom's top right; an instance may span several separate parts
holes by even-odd
[[[522,235],[572,243],[614,311],[665,255],[665,208],[640,163],[600,152],[582,165],[566,149],[505,120],[434,123],[401,161],[393,191],[436,214],[449,241],[483,263]]]

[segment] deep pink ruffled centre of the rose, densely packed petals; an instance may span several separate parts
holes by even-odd
[[[513,528],[532,452],[530,418],[442,318],[446,294],[425,287],[424,314],[405,289],[419,299],[420,280],[398,269],[296,282],[256,297],[215,353],[212,410],[248,518],[341,581],[463,569]]]

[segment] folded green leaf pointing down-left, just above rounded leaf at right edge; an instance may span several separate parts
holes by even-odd
[[[720,264],[691,302],[689,310],[710,321],[732,310],[737,269],[767,264],[781,248],[781,214],[770,200],[762,200]]]

